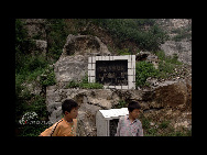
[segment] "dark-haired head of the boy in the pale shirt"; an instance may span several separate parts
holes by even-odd
[[[140,106],[139,102],[137,102],[137,101],[131,101],[131,102],[128,104],[129,114],[130,114],[133,119],[137,119],[137,118],[139,117],[140,109],[141,109],[141,106]]]

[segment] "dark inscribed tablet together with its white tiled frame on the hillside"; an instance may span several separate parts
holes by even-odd
[[[105,88],[135,89],[135,55],[88,57],[88,82]]]

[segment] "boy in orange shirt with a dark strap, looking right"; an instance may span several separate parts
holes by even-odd
[[[40,136],[76,136],[78,104],[66,99],[62,104],[64,118],[46,129]]]

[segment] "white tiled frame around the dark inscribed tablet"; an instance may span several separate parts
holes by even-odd
[[[103,86],[115,89],[135,89],[135,55],[88,57],[88,82],[96,81],[97,60],[128,60],[128,86]]]

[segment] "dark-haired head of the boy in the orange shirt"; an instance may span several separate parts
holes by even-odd
[[[65,117],[76,119],[78,114],[78,104],[72,99],[66,99],[62,103],[62,110]]]

